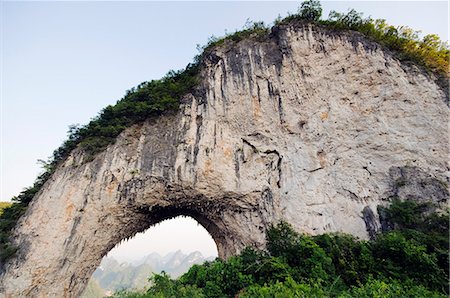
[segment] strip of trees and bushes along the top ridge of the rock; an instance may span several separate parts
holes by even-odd
[[[363,18],[362,13],[350,10],[347,14],[331,12],[327,20],[321,20],[322,8],[317,0],[307,0],[301,4],[297,14],[275,21],[275,25],[293,23],[314,23],[331,30],[353,30],[390,49],[402,61],[411,61],[441,76],[447,82],[449,75],[449,47],[431,34],[419,39],[417,31],[408,27],[393,27],[385,20]],[[9,242],[11,229],[25,212],[27,205],[39,192],[44,183],[54,173],[70,152],[79,147],[85,152],[85,161],[114,143],[116,137],[127,127],[143,122],[149,117],[175,111],[183,95],[193,91],[198,84],[201,61],[214,47],[224,43],[236,43],[244,39],[264,40],[270,35],[270,28],[263,22],[247,22],[243,30],[227,34],[225,37],[211,37],[202,53],[185,70],[170,71],[161,80],[143,82],[128,90],[115,105],[107,106],[85,126],[71,126],[68,139],[53,152],[53,156],[43,162],[44,172],[32,187],[25,189],[12,200],[14,204],[0,214],[0,263],[12,255],[16,248]],[[448,83],[448,82],[447,82]]]

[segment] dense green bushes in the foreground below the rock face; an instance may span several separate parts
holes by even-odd
[[[266,250],[194,265],[177,280],[156,274],[148,291],[115,297],[447,297],[449,214],[429,207],[394,199],[383,208],[394,228],[373,241],[300,235],[280,222]]]

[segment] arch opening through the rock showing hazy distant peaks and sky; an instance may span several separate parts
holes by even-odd
[[[120,289],[144,289],[153,273],[165,271],[177,278],[192,265],[218,257],[218,247],[209,232],[215,231],[214,224],[187,213],[159,211],[159,216],[153,217],[157,223],[120,241],[103,257],[82,297],[110,296]]]

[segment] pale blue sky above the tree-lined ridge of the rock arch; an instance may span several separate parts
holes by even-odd
[[[37,160],[51,156],[69,125],[86,124],[142,81],[184,68],[197,54],[196,45],[211,35],[240,29],[247,19],[270,23],[300,3],[1,1],[0,200],[32,185],[41,171]],[[449,39],[447,1],[322,6],[325,18],[330,10],[354,8]],[[195,226],[185,224],[182,231],[193,235]],[[144,238],[140,243],[162,241]],[[211,244],[206,242],[199,247]]]

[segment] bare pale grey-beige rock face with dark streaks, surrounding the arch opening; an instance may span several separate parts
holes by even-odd
[[[368,238],[392,194],[447,199],[447,95],[359,34],[276,27],[215,49],[201,75],[178,113],[57,169],[14,231],[2,296],[76,297],[117,243],[177,215],[226,258],[279,220]],[[434,184],[398,183],[411,169]]]

